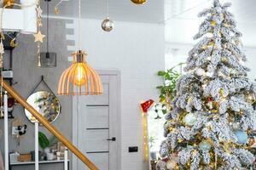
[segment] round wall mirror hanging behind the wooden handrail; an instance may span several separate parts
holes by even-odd
[[[38,111],[48,122],[55,122],[61,112],[61,103],[55,94],[47,91],[38,91],[31,94],[26,102]],[[32,114],[25,109],[26,117],[30,122],[35,122],[36,119]]]

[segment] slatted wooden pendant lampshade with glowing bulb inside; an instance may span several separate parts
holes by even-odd
[[[61,75],[58,94],[99,95],[103,93],[102,81],[97,72],[85,61],[86,54],[79,50],[73,54],[73,64]]]

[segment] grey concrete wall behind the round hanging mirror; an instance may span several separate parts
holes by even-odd
[[[61,72],[70,65],[70,63],[67,62],[67,56],[70,55],[70,52],[67,51],[67,45],[73,45],[73,42],[66,40],[66,34],[73,34],[73,30],[66,29],[66,23],[68,22],[73,22],[73,20],[52,19],[49,21],[49,51],[57,54],[57,67],[55,68],[38,68],[37,44],[34,42],[34,37],[32,35],[22,34],[18,37],[18,47],[14,50],[13,58],[14,81],[18,83],[14,85],[14,88],[24,98],[28,97],[32,88],[40,81],[41,75],[44,75],[45,81],[56,94]],[[42,32],[46,32],[45,28],[42,29]],[[46,50],[45,42],[46,41],[44,41],[41,50],[42,52]],[[40,88],[45,89],[44,87]],[[59,99],[61,100],[62,106],[61,115],[53,125],[60,129],[67,139],[72,139],[72,98],[59,96]],[[34,150],[34,126],[26,119],[24,108],[21,105],[15,106],[14,116],[19,117],[26,123],[28,129],[26,135],[22,136],[20,139],[20,146],[16,144],[15,138],[13,138],[10,133],[9,150],[18,150],[20,153],[27,153]],[[9,120],[9,131],[11,130],[12,121],[13,120]],[[0,120],[0,129],[3,130],[3,120]],[[39,130],[49,135],[44,127],[40,127]],[[3,137],[0,139],[0,149],[3,153]],[[26,169],[33,169],[33,167],[27,167]],[[40,169],[44,168],[42,167]],[[60,169],[60,167],[56,169]]]

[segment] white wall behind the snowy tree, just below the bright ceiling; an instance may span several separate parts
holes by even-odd
[[[189,50],[194,47],[194,44],[183,44],[176,42],[166,42],[166,69],[177,65],[180,62],[186,62]],[[244,47],[245,54],[247,54],[246,65],[251,71],[248,72],[248,77],[252,80],[256,79],[256,47]]]

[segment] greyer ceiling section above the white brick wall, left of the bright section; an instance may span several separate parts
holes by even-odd
[[[41,1],[45,7],[44,0]],[[50,2],[50,12],[54,14],[54,6],[60,0]],[[131,0],[81,0],[82,17],[102,20],[109,16],[112,20],[158,23],[164,21],[164,0],[148,0],[143,5],[131,3]],[[60,6],[60,16],[78,17],[79,0],[65,0]],[[45,11],[45,10],[44,10]]]

